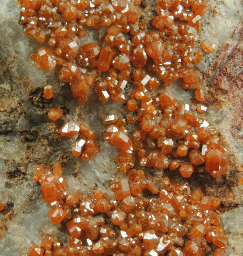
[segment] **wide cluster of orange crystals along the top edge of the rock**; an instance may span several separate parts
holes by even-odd
[[[202,74],[195,65],[202,59],[202,50],[212,53],[216,44],[204,40],[198,45],[200,20],[206,11],[204,0],[157,0],[157,16],[146,29],[138,22],[142,15],[141,0],[19,0],[24,33],[49,46],[41,47],[32,59],[38,68],[58,72],[68,82],[80,105],[87,100],[89,88],[101,101],[110,98],[122,102],[123,89],[132,81],[134,68],[146,63],[150,75],[140,76],[136,83],[155,90],[181,79],[183,88],[197,90],[196,98],[203,101]],[[80,44],[87,28],[108,27],[106,46]],[[109,75],[97,79],[100,72]],[[95,80],[97,81],[95,82]]]

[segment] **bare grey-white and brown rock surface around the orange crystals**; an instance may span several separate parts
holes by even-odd
[[[145,1],[148,2],[148,1]],[[152,1],[151,1],[152,2]],[[189,182],[208,195],[223,197],[219,210],[229,236],[227,255],[242,254],[243,245],[243,26],[240,0],[209,0],[200,40],[219,44],[218,50],[206,55],[198,66],[207,83],[206,118],[221,131],[221,138],[230,154],[231,171],[225,177],[213,179],[198,173]],[[148,5],[149,7],[149,5]],[[149,15],[149,12],[148,12]],[[30,59],[39,44],[22,32],[19,6],[15,0],[0,3],[0,201],[5,210],[0,213],[0,256],[27,255],[28,247],[40,243],[41,232],[65,238],[60,225],[52,225],[47,217],[49,206],[41,198],[40,187],[32,181],[36,164],[60,161],[69,188],[78,192],[93,188],[105,189],[109,177],[116,173],[114,158],[118,152],[105,141],[102,115],[116,109],[121,117],[125,108],[118,103],[100,103],[95,95],[80,107],[69,88],[60,83],[55,71],[37,70]],[[99,35],[90,34],[92,41]],[[43,86],[52,84],[55,97],[43,98]],[[166,88],[178,101],[194,102],[191,92],[177,84]],[[57,136],[56,125],[47,118],[47,111],[56,106],[64,112],[57,127],[69,120],[88,123],[98,135],[100,153],[89,162],[74,160],[70,138]],[[168,174],[168,173],[167,173]],[[117,175],[117,174],[116,174]],[[158,173],[161,175],[161,173]],[[176,179],[180,179],[176,177]],[[74,190],[74,191],[75,191]]]

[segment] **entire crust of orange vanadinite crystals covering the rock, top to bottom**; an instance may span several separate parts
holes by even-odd
[[[217,178],[229,169],[219,131],[203,117],[208,95],[196,68],[217,48],[208,40],[198,42],[206,1],[157,0],[151,20],[141,0],[18,1],[24,33],[45,43],[31,55],[37,68],[58,69],[80,109],[92,90],[101,103],[125,107],[122,114],[110,107],[101,115],[108,125],[106,143],[120,151],[115,162],[123,175],[110,179],[109,196],[100,190],[93,197],[69,192],[60,164],[37,168],[33,180],[50,204],[49,219],[70,238],[63,244],[46,234],[29,255],[203,256],[215,247],[215,256],[223,255],[227,237],[215,212],[221,200],[156,175],[168,169],[187,179],[205,169]],[[178,79],[182,88],[195,91],[196,108],[165,89]],[[43,96],[53,97],[51,85]],[[48,112],[53,121],[62,115],[61,109]],[[80,121],[66,122],[58,133],[72,140],[71,157],[90,160],[99,152],[95,133]]]

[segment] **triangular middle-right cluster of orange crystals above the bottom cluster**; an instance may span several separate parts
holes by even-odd
[[[148,94],[143,86],[132,94],[127,108],[137,110],[137,115],[128,114],[127,121],[115,120],[106,131],[108,142],[120,149],[116,163],[122,173],[134,167],[136,156],[140,166],[171,171],[179,168],[186,178],[192,175],[194,166],[204,163],[213,177],[228,171],[227,150],[220,144],[219,131],[191,112],[188,104],[176,103],[168,92]],[[138,102],[141,107],[137,107]],[[131,138],[126,123],[138,123]]]

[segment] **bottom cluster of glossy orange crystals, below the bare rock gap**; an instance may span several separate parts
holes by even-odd
[[[132,169],[128,177],[110,180],[110,190],[94,190],[93,197],[67,191],[62,167],[39,167],[34,181],[51,205],[49,219],[66,226],[71,238],[66,246],[43,235],[41,247],[30,247],[29,256],[204,256],[215,249],[224,255],[227,237],[215,212],[219,198],[191,193],[189,184],[160,181]],[[212,246],[209,244],[212,243]]]

